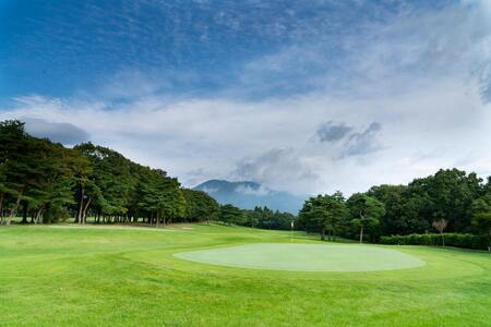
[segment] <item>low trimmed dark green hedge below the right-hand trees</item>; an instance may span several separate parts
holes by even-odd
[[[472,250],[490,250],[488,235],[474,235],[460,233],[444,233],[445,246],[456,246]],[[442,245],[442,234],[410,234],[381,237],[380,243],[394,245]]]

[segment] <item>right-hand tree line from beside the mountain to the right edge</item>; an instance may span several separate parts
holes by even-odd
[[[491,178],[439,170],[407,185],[378,185],[345,199],[340,192],[306,201],[299,223],[307,231],[376,242],[384,235],[438,231],[491,237]]]

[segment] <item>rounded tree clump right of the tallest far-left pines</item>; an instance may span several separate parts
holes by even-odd
[[[92,164],[79,187],[79,222],[87,208],[109,222],[137,221],[159,225],[185,216],[185,199],[177,179],[158,169],[140,166],[119,153],[91,143],[75,147]],[[82,214],[80,214],[82,213]]]

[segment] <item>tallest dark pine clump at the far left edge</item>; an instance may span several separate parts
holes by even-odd
[[[63,207],[73,203],[73,150],[47,140],[32,137],[19,121],[0,123],[0,216],[2,223],[22,207],[23,222],[60,219]],[[4,207],[9,206],[9,213]]]

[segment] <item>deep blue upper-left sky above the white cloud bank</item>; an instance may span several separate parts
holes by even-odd
[[[144,74],[153,92],[209,95],[233,85],[246,97],[310,92],[313,75],[343,70],[346,36],[400,12],[448,1],[9,1],[0,48],[5,99],[98,94],[121,74]],[[431,2],[431,5],[428,4]],[[322,48],[327,60],[297,58],[273,75],[243,81],[254,59],[289,47]],[[321,49],[319,49],[321,51]],[[266,71],[270,68],[264,68]],[[127,75],[124,75],[127,74]],[[280,84],[276,80],[296,78]],[[159,82],[159,83],[158,83]],[[272,87],[270,83],[277,84]]]

